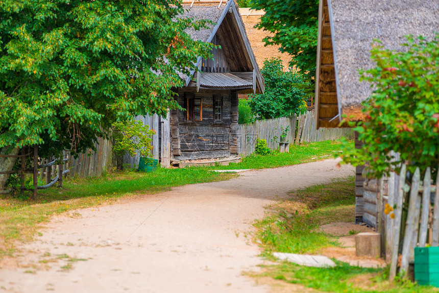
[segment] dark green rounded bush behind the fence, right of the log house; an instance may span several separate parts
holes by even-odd
[[[305,112],[308,97],[300,86],[308,83],[301,75],[283,71],[280,58],[266,59],[261,74],[265,80],[264,93],[249,95],[253,113],[270,119]]]

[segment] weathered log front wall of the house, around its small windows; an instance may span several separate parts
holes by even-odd
[[[179,90],[178,102],[185,107],[185,93],[202,98],[202,120],[188,121],[186,111],[173,111],[170,116],[170,132],[173,159],[196,160],[229,157],[231,145],[237,152],[237,94],[230,90],[185,88]],[[233,93],[233,94],[232,94]],[[222,96],[222,121],[214,121],[213,99]],[[236,115],[232,123],[232,95],[236,99]],[[236,133],[231,133],[236,124]]]

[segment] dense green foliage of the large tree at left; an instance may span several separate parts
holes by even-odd
[[[185,33],[206,22],[183,12],[178,0],[2,1],[0,148],[79,152],[110,121],[178,107],[177,72],[211,46]]]

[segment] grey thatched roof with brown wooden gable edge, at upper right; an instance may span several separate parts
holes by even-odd
[[[320,0],[316,110],[318,127],[336,127],[338,114],[362,120],[361,102],[371,85],[359,81],[358,69],[375,66],[374,39],[402,50],[406,35],[432,39],[439,32],[439,2],[425,0]],[[332,67],[331,67],[332,65]]]

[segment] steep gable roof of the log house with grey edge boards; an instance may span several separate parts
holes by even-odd
[[[247,87],[249,89],[248,81],[255,78],[254,90],[258,92],[264,91],[264,82],[259,70],[259,66],[256,63],[256,58],[253,54],[252,47],[250,45],[249,38],[247,36],[245,26],[243,25],[242,18],[233,0],[229,0],[225,5],[193,5],[183,6],[187,11],[182,15],[182,17],[191,17],[195,19],[208,19],[216,23],[216,25],[210,25],[207,29],[202,29],[199,31],[188,29],[186,32],[194,40],[200,40],[204,42],[218,42],[222,46],[221,55],[224,54],[227,61],[231,62],[230,68],[227,68],[227,73],[238,75],[232,78],[230,76],[218,76],[214,80],[221,80],[223,83],[230,81],[230,88],[235,88],[236,81],[240,81],[239,87]],[[233,39],[233,41],[231,41]],[[200,68],[202,64],[202,58],[199,57],[194,68]],[[204,66],[204,65],[203,65]],[[229,72],[230,71],[230,72]],[[244,72],[253,72],[254,74],[250,77],[248,75],[242,75]],[[192,77],[194,75],[195,69],[191,71],[189,77],[186,78],[186,86],[191,83]],[[214,72],[212,72],[214,73]],[[224,74],[226,72],[221,72],[218,74]],[[199,79],[201,79],[200,74],[197,74]],[[210,75],[212,78],[212,75]],[[203,79],[204,80],[204,79]],[[245,83],[243,83],[245,82]],[[244,86],[246,84],[246,86]],[[200,84],[198,84],[200,86]],[[250,87],[251,89],[252,87]]]

